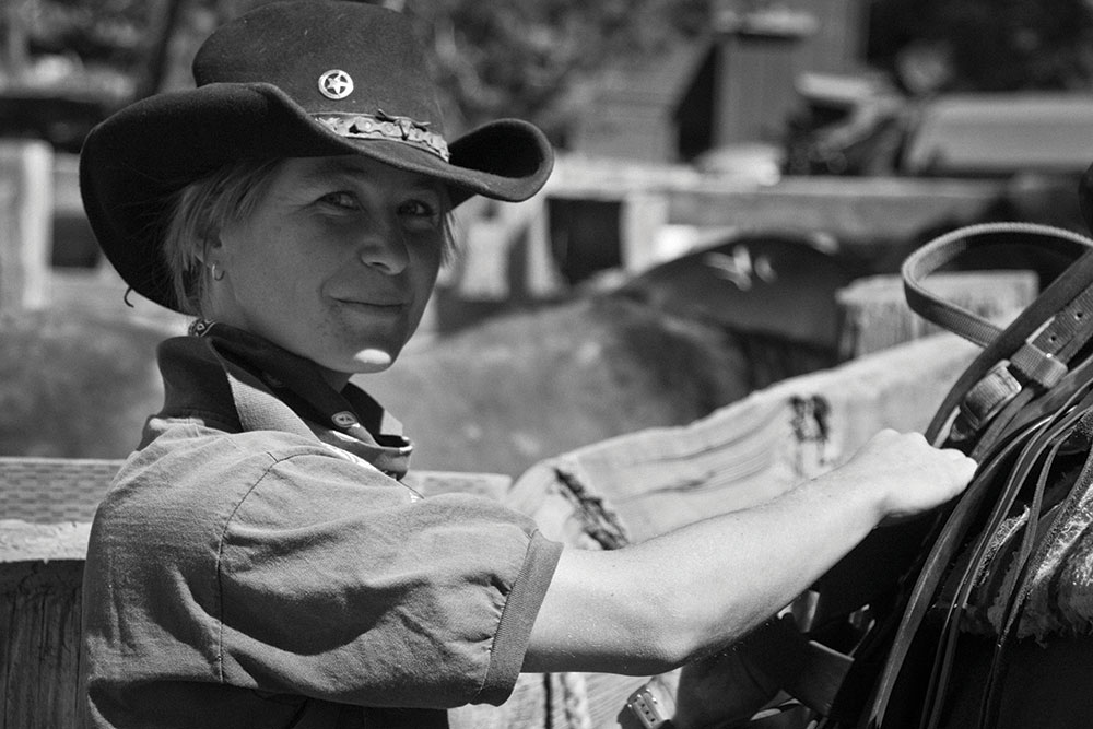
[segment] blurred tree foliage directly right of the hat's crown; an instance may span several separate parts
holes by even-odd
[[[462,126],[500,116],[564,136],[569,91],[698,33],[709,0],[409,0]]]

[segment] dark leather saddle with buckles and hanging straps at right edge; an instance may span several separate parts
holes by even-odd
[[[1093,167],[1081,185],[1093,220]],[[929,274],[1033,247],[1067,263],[1006,327]],[[1093,239],[1029,223],[962,227],[912,254],[909,306],[983,351],[927,430],[979,468],[954,502],[877,529],[761,628],[780,727],[1074,727],[1093,721]],[[756,726],[760,726],[756,724]]]

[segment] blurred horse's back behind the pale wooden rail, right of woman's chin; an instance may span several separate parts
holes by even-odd
[[[443,337],[360,381],[406,423],[420,468],[515,477],[832,366],[835,292],[850,279],[803,238],[732,238],[611,293]]]

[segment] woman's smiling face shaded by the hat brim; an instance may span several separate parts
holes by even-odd
[[[209,315],[334,380],[395,362],[425,310],[448,201],[432,178],[360,156],[290,158],[209,251]]]

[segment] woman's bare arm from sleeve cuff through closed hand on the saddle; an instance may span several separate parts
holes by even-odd
[[[567,549],[524,670],[651,674],[708,655],[789,603],[882,519],[949,501],[974,470],[956,450],[885,431],[762,506],[622,550]]]

